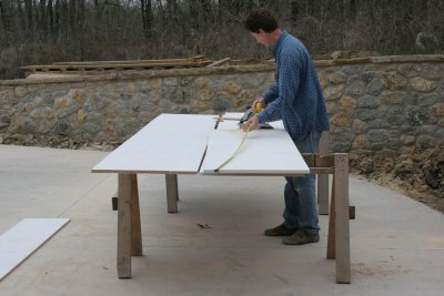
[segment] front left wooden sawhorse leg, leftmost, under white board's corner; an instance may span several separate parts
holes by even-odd
[[[131,174],[119,174],[118,275],[131,277]]]

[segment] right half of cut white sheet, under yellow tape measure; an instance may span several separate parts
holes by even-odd
[[[203,174],[296,175],[310,173],[290,135],[283,129],[251,131],[238,155],[218,173],[214,170],[238,149],[244,132],[222,122],[209,137]]]

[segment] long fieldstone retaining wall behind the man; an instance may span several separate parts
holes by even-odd
[[[444,55],[315,63],[332,151],[396,155],[444,139]],[[160,113],[243,111],[273,80],[274,64],[256,64],[0,81],[0,143],[113,146]]]

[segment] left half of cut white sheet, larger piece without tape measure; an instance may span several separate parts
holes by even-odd
[[[92,172],[196,173],[214,115],[161,114]]]

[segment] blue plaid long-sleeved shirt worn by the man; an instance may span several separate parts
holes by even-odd
[[[300,40],[283,31],[272,47],[276,84],[264,93],[268,104],[258,114],[261,123],[282,120],[293,142],[311,131],[327,131],[324,96],[311,57]]]

